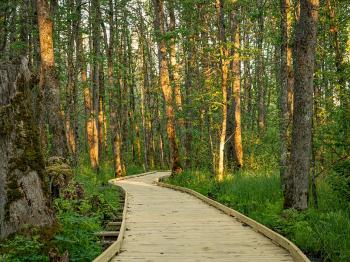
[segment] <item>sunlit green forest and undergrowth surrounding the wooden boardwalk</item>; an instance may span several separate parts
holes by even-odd
[[[349,0],[1,0],[0,261],[94,260],[156,170],[350,261]]]

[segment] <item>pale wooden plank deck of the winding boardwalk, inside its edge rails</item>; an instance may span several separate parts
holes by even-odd
[[[235,218],[185,193],[153,185],[157,172],[121,180],[128,192],[126,232],[112,261],[293,261]]]

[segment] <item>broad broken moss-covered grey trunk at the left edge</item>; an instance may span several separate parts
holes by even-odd
[[[0,64],[0,239],[26,225],[50,225],[44,160],[32,116],[34,85],[21,63]]]

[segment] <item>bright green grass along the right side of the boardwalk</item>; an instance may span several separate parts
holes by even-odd
[[[169,178],[257,220],[286,236],[311,258],[350,261],[350,205],[318,181],[319,209],[283,210],[278,172],[243,171],[218,183],[208,172],[191,171]]]

